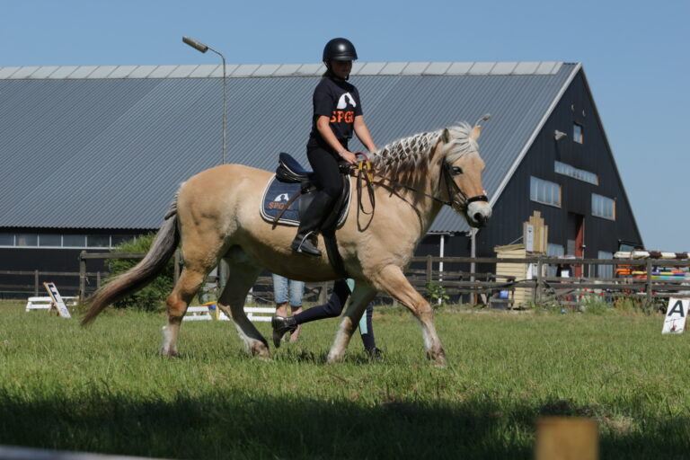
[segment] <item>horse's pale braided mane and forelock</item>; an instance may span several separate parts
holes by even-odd
[[[447,162],[453,163],[460,156],[478,149],[476,141],[470,137],[472,128],[469,124],[461,122],[447,129],[450,134]],[[429,155],[431,149],[438,144],[442,134],[443,129],[438,129],[395,140],[376,150],[371,155],[371,163],[374,164],[378,173],[398,178],[414,173],[426,173],[431,162],[432,155]]]

